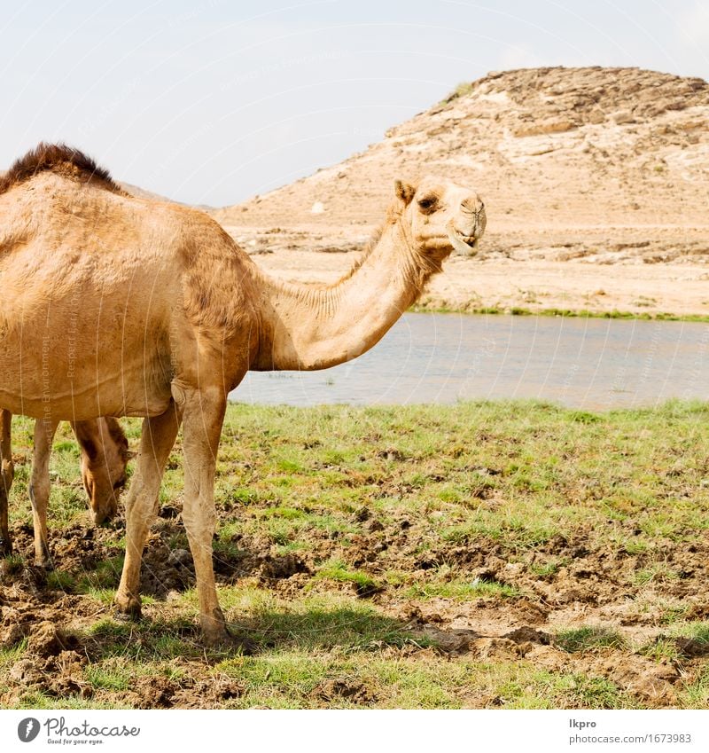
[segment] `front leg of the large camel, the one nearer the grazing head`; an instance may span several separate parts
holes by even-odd
[[[181,412],[170,401],[160,416],[143,421],[143,435],[126,498],[126,559],[115,605],[119,612],[140,618],[140,562],[151,522],[158,514],[160,482],[168,455],[175,444]]]

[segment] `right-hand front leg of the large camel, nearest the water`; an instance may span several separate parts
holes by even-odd
[[[199,596],[199,623],[207,644],[229,639],[216,596],[212,545],[216,528],[214,472],[226,396],[218,389],[187,393],[183,417],[183,522],[190,542]]]

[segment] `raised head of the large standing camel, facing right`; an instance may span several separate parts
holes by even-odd
[[[442,261],[453,251],[474,256],[485,231],[485,205],[479,195],[461,185],[425,177],[417,185],[397,180],[401,220],[411,230],[415,249]]]

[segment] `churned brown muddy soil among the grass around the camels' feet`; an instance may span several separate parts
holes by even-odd
[[[257,584],[293,599],[306,588],[308,592],[351,592],[369,599],[382,615],[396,620],[401,630],[409,631],[415,639],[413,645],[384,647],[384,651],[400,650],[407,655],[421,652],[422,656],[433,651],[447,655],[451,661],[465,657],[481,663],[524,662],[551,672],[572,671],[589,678],[606,678],[643,707],[675,707],[678,683],[690,683],[706,666],[709,644],[668,639],[660,605],[669,601],[681,603],[688,620],[705,620],[709,616],[705,593],[709,542],[668,544],[664,558],[679,571],[679,577],[640,586],[632,585],[632,575],[647,564],[648,555],[589,551],[583,531],[573,539],[556,537],[521,558],[510,558],[493,541],[479,540],[432,549],[421,559],[413,552],[425,531],[418,529],[416,523],[401,518],[384,524],[362,511],[355,517],[362,522],[364,534],[355,536],[346,546],[338,537],[313,531],[308,552],[302,556],[277,556],[267,541],[237,535],[234,543],[238,546],[231,548],[229,555],[214,555],[217,579],[223,585]],[[100,571],[101,577],[106,578],[105,585],[115,587],[119,566],[113,573],[110,563],[121,554],[121,548],[115,545],[120,532],[121,522],[116,529],[86,531],[76,526],[54,531],[51,549],[56,567],[64,574],[63,588],[43,570],[17,563],[4,566],[0,648],[27,648],[0,670],[0,680],[6,688],[0,696],[3,707],[18,706],[28,691],[50,698],[75,695],[140,709],[222,708],[244,693],[243,683],[214,674],[214,664],[223,655],[210,658],[190,651],[172,660],[175,671],[170,677],[139,678],[129,689],[114,691],[103,687],[97,690],[91,684],[87,674],[91,663],[111,662],[102,654],[100,632],[92,633],[91,627],[113,616],[113,612],[89,593],[81,592],[81,578],[95,577]],[[177,616],[173,606],[175,593],[194,586],[189,552],[169,544],[182,532],[179,512],[176,517],[160,519],[152,530],[144,556],[142,585],[144,594],[156,601],[144,612],[149,620],[164,622],[170,631],[179,631],[186,645],[194,647],[199,645],[196,628],[189,619]],[[32,549],[29,528],[16,526],[13,535],[17,551],[28,558]],[[312,577],[317,563],[331,558],[347,561],[375,578],[378,572],[396,567],[420,576],[422,582],[443,566],[455,566],[458,575],[464,573],[471,581],[506,584],[521,595],[475,600],[405,599],[396,588],[386,585],[362,592],[354,584]],[[543,565],[549,561],[563,565],[545,570]],[[641,590],[642,608],[637,598]],[[558,639],[558,631],[581,625],[592,625],[601,633],[609,631],[619,639],[604,647],[570,650]],[[143,639],[136,630],[136,641]],[[674,641],[674,658],[652,656],[648,647],[666,640]],[[264,647],[256,643],[253,652],[258,654],[260,648]],[[376,701],[352,678],[321,684],[311,700],[326,707],[342,699],[362,705]],[[471,707],[493,708],[504,703],[505,699],[497,696],[471,694],[466,699],[466,705]]]

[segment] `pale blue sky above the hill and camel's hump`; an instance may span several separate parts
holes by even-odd
[[[490,70],[709,78],[709,0],[29,2],[0,17],[0,168],[41,139],[215,206],[340,161]]]

